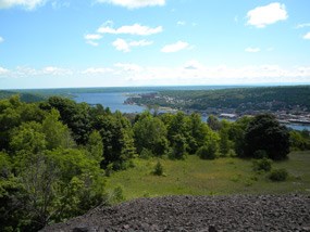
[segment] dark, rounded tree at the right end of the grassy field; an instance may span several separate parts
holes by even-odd
[[[289,133],[273,115],[258,115],[245,132],[245,155],[253,157],[256,151],[265,151],[271,159],[284,159],[289,153]]]

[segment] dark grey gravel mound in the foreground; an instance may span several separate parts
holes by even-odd
[[[310,231],[310,196],[138,198],[42,231]]]

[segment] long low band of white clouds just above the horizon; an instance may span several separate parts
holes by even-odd
[[[89,78],[85,78],[89,77]],[[249,66],[207,66],[198,61],[188,61],[177,66],[141,66],[134,63],[116,63],[107,67],[88,67],[70,69],[55,66],[33,68],[20,66],[12,69],[0,67],[0,78],[47,78],[53,81],[53,87],[60,87],[60,81],[67,87],[78,86],[163,86],[163,85],[245,85],[245,83],[280,83],[308,82],[310,66],[282,67],[274,64]],[[30,81],[29,81],[30,82]],[[32,83],[29,88],[35,88]]]

